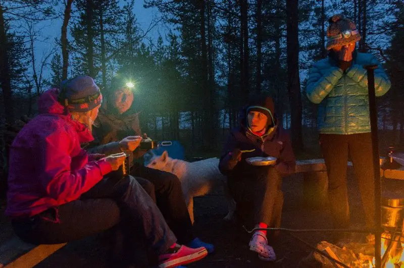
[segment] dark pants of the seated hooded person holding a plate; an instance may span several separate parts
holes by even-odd
[[[237,213],[251,224],[265,223],[279,227],[282,214],[282,177],[273,167],[254,167],[250,176],[229,177],[230,195],[237,203]]]

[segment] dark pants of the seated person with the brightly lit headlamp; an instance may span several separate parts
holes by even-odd
[[[187,244],[193,239],[192,223],[182,192],[181,183],[172,173],[136,165],[132,176],[138,179],[146,192],[155,199],[170,229],[179,244]],[[139,179],[142,178],[142,179]]]

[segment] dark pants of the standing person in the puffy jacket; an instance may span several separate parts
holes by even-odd
[[[374,178],[371,133],[321,134],[320,145],[328,174],[328,198],[334,228],[349,227],[346,170],[348,155],[354,164],[365,209],[367,227],[374,223]]]

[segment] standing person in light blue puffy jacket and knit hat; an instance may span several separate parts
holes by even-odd
[[[375,70],[376,96],[389,90],[390,81],[373,55],[355,50],[361,36],[352,21],[343,15],[332,16],[327,37],[328,57],[313,65],[307,82],[307,96],[319,104],[317,124],[327,166],[333,227],[349,227],[348,153],[358,178],[366,225],[373,227],[372,138],[368,78],[364,66],[378,65]]]

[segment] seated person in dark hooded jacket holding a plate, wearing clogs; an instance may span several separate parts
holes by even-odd
[[[259,228],[279,227],[283,204],[281,178],[295,169],[289,135],[274,117],[274,111],[271,97],[252,98],[241,110],[240,126],[231,131],[219,162],[238,214],[250,218]],[[273,156],[277,161],[274,166],[249,165],[245,159],[255,156]],[[249,249],[262,260],[276,259],[266,231],[252,235]]]

